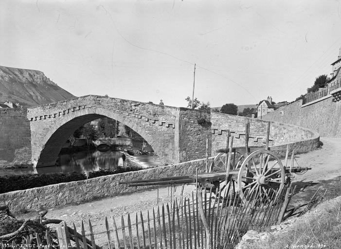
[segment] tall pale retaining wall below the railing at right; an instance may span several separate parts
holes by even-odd
[[[333,102],[332,97],[305,107],[299,100],[268,113],[263,119],[305,127],[323,137],[341,137],[341,101]]]

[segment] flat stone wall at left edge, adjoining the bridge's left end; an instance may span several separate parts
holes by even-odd
[[[31,131],[26,109],[0,110],[0,168],[31,164]]]

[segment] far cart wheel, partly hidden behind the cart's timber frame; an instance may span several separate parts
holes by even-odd
[[[226,161],[225,161],[226,153],[219,153],[215,156],[215,159],[210,165],[209,172],[226,172]],[[231,169],[239,169],[242,162],[244,160],[244,156],[238,152],[234,152],[232,154],[232,162],[231,162]],[[234,162],[234,164],[233,164]],[[225,197],[233,197],[236,195],[238,186],[237,186],[237,178],[233,176],[229,176],[227,182],[225,182],[225,177],[218,182],[214,182],[215,186],[218,187],[218,191],[220,192],[220,196]]]

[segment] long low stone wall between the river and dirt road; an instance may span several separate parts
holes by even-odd
[[[213,158],[210,158],[210,163],[212,160]],[[199,172],[204,172],[205,165],[205,159],[193,160],[158,168],[18,190],[0,194],[0,202],[8,205],[11,212],[18,212],[22,209],[39,210],[66,204],[77,204],[94,198],[135,193],[151,188],[151,186],[128,187],[127,184],[119,184],[120,181],[195,175],[196,167]]]

